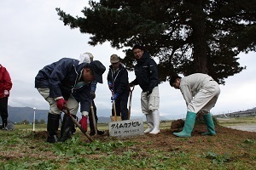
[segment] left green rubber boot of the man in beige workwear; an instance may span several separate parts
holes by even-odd
[[[187,138],[191,137],[191,133],[195,126],[196,113],[188,111],[186,116],[186,121],[183,127],[183,131],[179,133],[173,133],[177,137]]]

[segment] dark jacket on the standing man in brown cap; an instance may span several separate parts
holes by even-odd
[[[113,83],[113,91],[115,94],[129,94],[129,80],[128,80],[128,71],[125,69],[123,64],[120,63],[119,70],[113,73],[113,66],[109,66],[108,71],[108,82]]]

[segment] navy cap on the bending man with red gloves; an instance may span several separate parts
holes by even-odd
[[[106,71],[106,67],[102,65],[101,61],[91,61],[90,69],[93,71],[94,80],[96,82],[103,83],[102,74]]]

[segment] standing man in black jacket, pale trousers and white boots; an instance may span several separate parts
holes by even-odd
[[[130,86],[139,85],[143,92],[141,94],[141,105],[143,114],[146,115],[148,128],[144,133],[160,133],[160,105],[158,69],[154,59],[143,46],[135,45],[132,52],[137,59],[135,65],[136,79],[130,82]]]

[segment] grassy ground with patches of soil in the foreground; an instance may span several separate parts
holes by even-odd
[[[220,120],[216,136],[201,136],[196,124],[191,138],[172,135],[171,123],[160,123],[160,134],[117,139],[106,134],[89,142],[79,132],[65,143],[48,144],[45,125],[16,125],[0,131],[0,169],[255,169],[256,133],[224,126],[256,123],[255,117]]]

